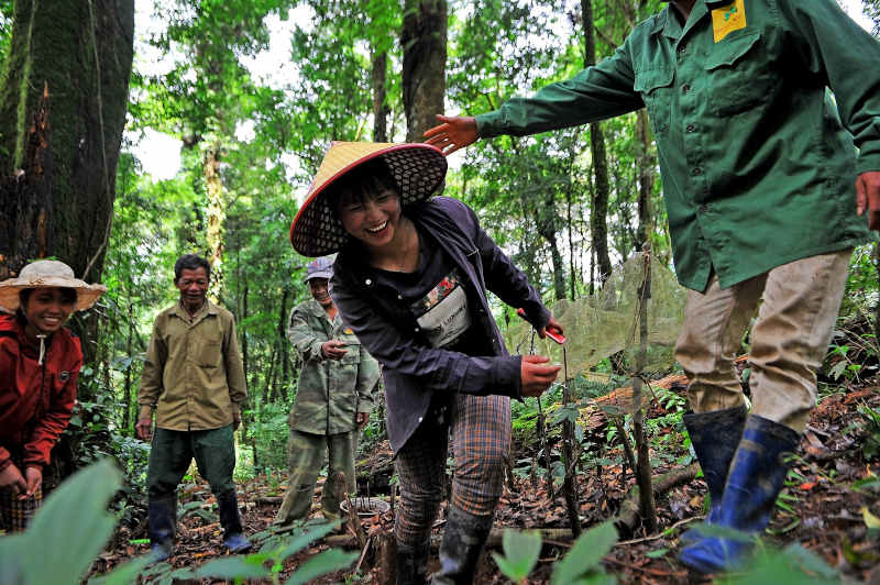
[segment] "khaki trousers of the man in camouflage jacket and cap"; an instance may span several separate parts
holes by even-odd
[[[287,493],[275,522],[287,525],[306,518],[311,510],[315,484],[328,453],[327,482],[321,492],[321,511],[328,520],[339,518],[340,492],[355,495],[354,452],[360,430],[337,434],[311,434],[290,431],[287,441]],[[341,481],[340,481],[341,479]]]

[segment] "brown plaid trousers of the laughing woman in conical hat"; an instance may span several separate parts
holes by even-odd
[[[400,543],[415,547],[430,538],[443,498],[450,435],[450,505],[474,516],[495,511],[510,449],[510,398],[457,394],[447,409],[432,406],[397,453],[400,503],[394,530]]]

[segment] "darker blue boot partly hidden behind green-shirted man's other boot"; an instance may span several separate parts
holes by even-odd
[[[710,412],[689,412],[683,417],[691,444],[700,461],[700,468],[703,470],[703,478],[708,487],[710,508],[705,520],[707,525],[715,523],[718,519],[727,472],[743,438],[746,413],[746,407],[738,406]],[[679,541],[685,544],[697,538],[700,538],[698,527],[688,530]]]

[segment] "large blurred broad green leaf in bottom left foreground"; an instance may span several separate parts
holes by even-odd
[[[121,484],[116,465],[102,460],[75,473],[46,498],[24,534],[26,583],[79,583],[113,532],[116,521],[107,503]]]

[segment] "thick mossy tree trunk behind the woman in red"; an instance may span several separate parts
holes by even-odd
[[[100,280],[133,34],[134,0],[15,1],[0,79],[0,278],[55,256]],[[91,314],[70,321],[87,362]]]

